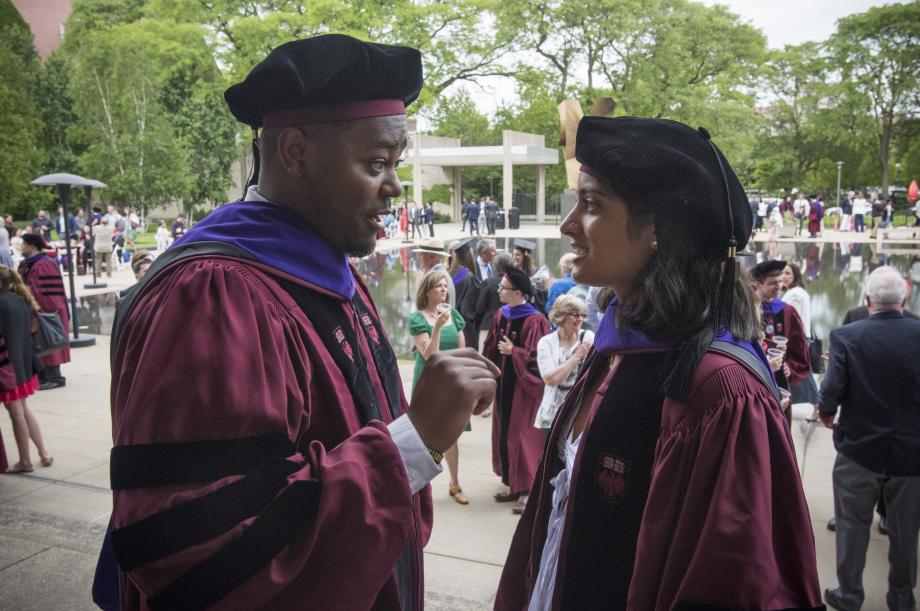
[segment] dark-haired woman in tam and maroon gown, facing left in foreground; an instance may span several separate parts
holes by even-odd
[[[607,311],[495,609],[820,607],[795,454],[735,259],[751,233],[744,189],[708,132],[674,121],[584,117],[575,156],[561,231],[572,277],[604,286]]]

